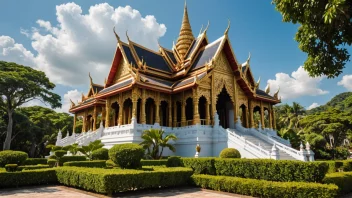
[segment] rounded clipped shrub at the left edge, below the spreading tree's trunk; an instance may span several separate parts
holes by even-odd
[[[22,151],[0,151],[0,167],[6,164],[22,164],[28,158],[28,154]]]

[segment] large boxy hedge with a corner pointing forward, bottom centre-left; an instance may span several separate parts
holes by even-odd
[[[189,168],[154,169],[155,171],[142,171],[60,167],[56,173],[61,184],[109,195],[136,189],[185,185],[193,173]]]

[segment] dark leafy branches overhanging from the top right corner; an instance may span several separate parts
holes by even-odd
[[[273,0],[284,22],[299,23],[299,48],[308,54],[304,69],[310,76],[337,77],[352,44],[352,0]]]

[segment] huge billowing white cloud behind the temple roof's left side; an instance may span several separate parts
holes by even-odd
[[[22,29],[22,34],[30,34],[35,53],[11,37],[1,36],[0,59],[33,66],[58,84],[85,84],[88,72],[94,82],[102,84],[116,49],[114,26],[122,40],[126,41],[126,30],[130,30],[131,40],[155,50],[158,39],[166,32],[165,25],[154,16],[142,16],[130,6],[114,8],[102,3],[91,6],[87,14],[82,12],[75,3],[58,5],[58,25],[38,19],[38,27],[31,27],[30,33]]]

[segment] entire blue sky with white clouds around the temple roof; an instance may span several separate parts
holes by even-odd
[[[126,30],[136,43],[157,50],[177,40],[182,0],[119,1],[0,1],[0,60],[44,71],[56,84],[67,112],[69,99],[81,100],[94,83],[103,84],[116,49],[113,27],[123,41]],[[299,25],[282,22],[271,1],[188,0],[193,34],[209,21],[210,42],[224,34],[231,21],[229,39],[237,60],[251,53],[251,69],[260,88],[280,87],[282,103],[299,102],[307,109],[323,105],[335,95],[352,91],[352,64],[334,79],[311,78],[302,65],[307,55],[294,40]],[[352,52],[352,48],[349,48]],[[29,104],[36,105],[39,101]]]

